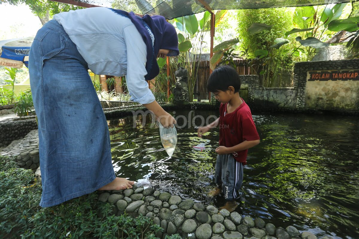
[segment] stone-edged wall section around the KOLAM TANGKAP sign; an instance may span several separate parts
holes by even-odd
[[[297,108],[329,111],[359,111],[358,80],[308,81],[310,71],[353,71],[359,69],[359,59],[341,61],[298,62],[294,65],[294,89]],[[309,88],[310,87],[310,88]],[[308,90],[306,90],[308,88]]]

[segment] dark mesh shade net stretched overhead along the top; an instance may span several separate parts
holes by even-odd
[[[259,9],[349,3],[359,0],[203,0],[212,9]],[[137,14],[162,15],[166,19],[206,11],[198,0],[79,0],[108,8],[133,11]]]

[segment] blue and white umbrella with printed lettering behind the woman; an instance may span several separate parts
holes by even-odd
[[[28,66],[29,51],[34,37],[0,40],[0,66]]]

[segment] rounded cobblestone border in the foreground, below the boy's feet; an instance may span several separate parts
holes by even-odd
[[[179,234],[183,239],[317,239],[313,233],[300,233],[294,226],[275,227],[261,218],[252,219],[236,211],[218,209],[191,199],[154,188],[137,187],[117,191],[101,191],[98,200],[112,204],[113,214],[139,215],[153,218],[163,228],[159,238]],[[321,239],[332,239],[323,236]]]

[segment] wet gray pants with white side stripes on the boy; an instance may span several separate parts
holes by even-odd
[[[235,200],[243,182],[243,164],[236,161],[232,154],[217,155],[214,182],[222,185],[224,198]]]

